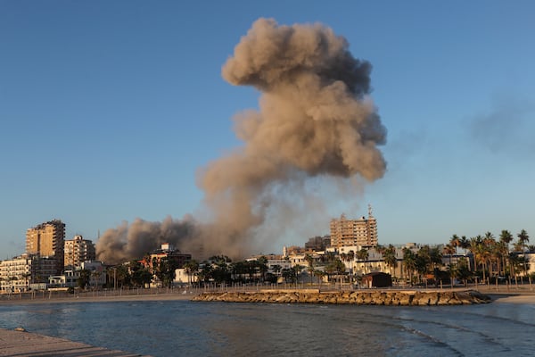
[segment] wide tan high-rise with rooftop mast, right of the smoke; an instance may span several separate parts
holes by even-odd
[[[359,245],[370,247],[377,245],[377,220],[368,206],[368,217],[348,220],[342,214],[339,220],[331,220],[331,246],[342,247]]]

